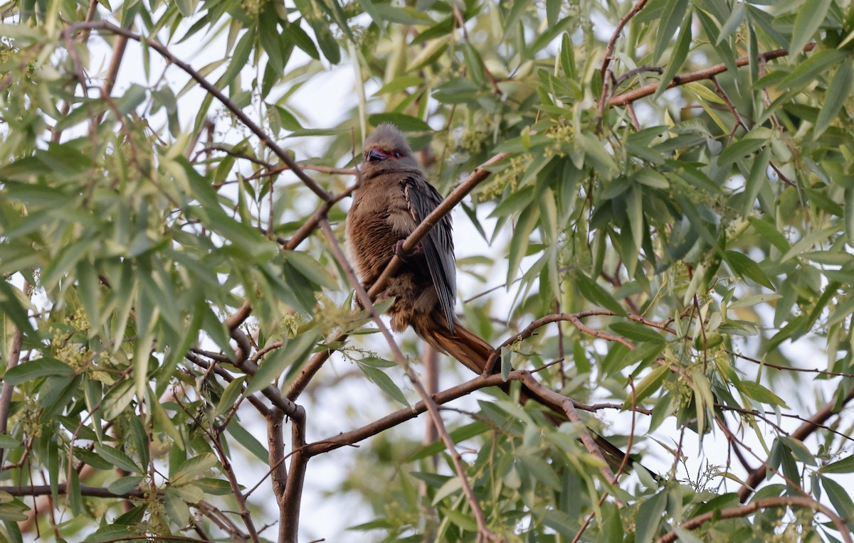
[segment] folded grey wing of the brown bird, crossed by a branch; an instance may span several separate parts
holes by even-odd
[[[403,193],[407,199],[409,212],[416,224],[436,209],[442,202],[442,196],[429,182],[421,176],[409,176],[403,184]],[[451,217],[446,215],[421,240],[424,257],[430,269],[430,277],[439,294],[439,303],[447,318],[447,326],[453,333],[453,303],[457,297],[457,269],[453,257],[453,236],[451,234]]]

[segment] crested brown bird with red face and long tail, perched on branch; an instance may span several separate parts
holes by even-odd
[[[376,299],[394,298],[386,311],[392,330],[403,332],[411,326],[427,344],[481,374],[494,349],[462,326],[453,309],[457,286],[451,217],[442,217],[410,254],[402,251],[403,241],[441,202],[407,137],[393,124],[380,124],[365,141],[360,184],[347,214],[348,251],[366,290],[395,255],[401,257],[401,268]],[[498,371],[500,364],[493,364],[493,373]],[[550,417],[557,424],[566,420],[561,406],[523,386],[520,401],[529,399],[557,413]],[[622,450],[595,432],[593,436],[609,464],[623,463]]]

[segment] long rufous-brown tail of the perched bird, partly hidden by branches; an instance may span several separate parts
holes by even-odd
[[[444,315],[436,315],[436,312],[431,313],[429,316],[420,315],[418,318],[413,319],[411,324],[412,329],[415,330],[418,337],[424,339],[424,341],[432,345],[435,349],[453,356],[472,372],[477,374],[483,373],[483,368],[486,367],[489,355],[492,355],[494,349],[491,345],[483,341],[482,338],[478,337],[477,334],[466,330],[459,323],[453,324],[453,332],[451,332],[447,327]],[[496,363],[493,372],[498,373],[500,367],[500,363]],[[506,386],[502,388],[507,389]],[[551,409],[554,414],[549,419],[552,419],[556,425],[566,420],[563,407],[537,394],[534,390],[530,390],[527,386],[522,386],[519,400],[522,403],[534,400],[542,406]],[[623,465],[623,462],[625,462],[627,467],[635,464],[634,459],[631,457],[625,460],[626,454],[616,445],[593,430],[590,430],[590,432],[593,434],[594,442],[599,446],[602,456],[612,468],[617,469],[620,465]]]

